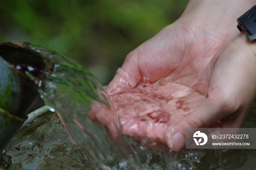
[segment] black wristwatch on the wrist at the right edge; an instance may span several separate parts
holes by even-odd
[[[246,31],[247,37],[251,40],[256,39],[256,5],[237,18],[237,28],[242,32]]]

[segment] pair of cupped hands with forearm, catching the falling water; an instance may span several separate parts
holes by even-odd
[[[128,54],[107,87],[112,114],[95,118],[173,151],[184,147],[185,128],[240,127],[255,98],[256,45],[245,34],[228,42],[238,13],[255,2],[233,2],[190,0],[180,19]]]

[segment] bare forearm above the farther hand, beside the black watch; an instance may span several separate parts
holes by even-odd
[[[230,41],[238,34],[236,19],[256,5],[256,0],[190,0],[180,21],[190,29]]]

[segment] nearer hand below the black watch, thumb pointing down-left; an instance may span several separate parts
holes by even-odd
[[[215,127],[241,127],[255,101],[256,44],[246,33],[220,49],[209,66],[207,98],[174,126],[170,141],[174,151],[184,147],[186,128],[207,128],[217,121]]]

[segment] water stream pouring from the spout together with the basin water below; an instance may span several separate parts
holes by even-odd
[[[251,170],[256,167],[256,150],[252,149],[184,149],[160,153],[149,151],[146,142],[138,144],[121,134],[115,142],[105,126],[94,121],[93,113],[102,109],[105,115],[115,117],[113,126],[120,126],[108,94],[87,69],[37,45],[21,42],[6,45],[12,50],[24,48],[42,56],[43,68],[19,62],[14,66],[34,80],[47,106],[29,114],[4,148],[0,155],[3,170]],[[245,127],[256,127],[255,113],[253,107]]]

